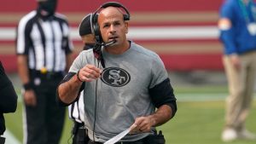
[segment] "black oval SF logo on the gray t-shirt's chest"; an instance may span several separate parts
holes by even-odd
[[[113,87],[122,87],[128,84],[131,76],[124,69],[119,67],[108,67],[102,72],[102,82]]]

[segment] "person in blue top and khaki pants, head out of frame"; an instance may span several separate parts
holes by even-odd
[[[226,0],[218,28],[224,44],[224,69],[230,95],[226,101],[223,141],[256,140],[246,129],[256,74],[256,18],[253,0]]]

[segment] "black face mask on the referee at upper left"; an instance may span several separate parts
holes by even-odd
[[[41,14],[43,17],[49,17],[49,16],[55,14],[56,7],[57,7],[57,0],[47,0],[45,2],[38,3],[39,14],[41,14],[42,10],[44,10],[48,13],[47,15]]]

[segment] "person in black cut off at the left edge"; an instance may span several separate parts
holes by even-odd
[[[17,108],[17,98],[15,88],[4,72],[2,62],[0,61],[0,143],[5,142],[2,137],[5,131],[5,122],[3,113],[15,112]]]

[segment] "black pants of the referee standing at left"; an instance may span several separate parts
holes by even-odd
[[[32,75],[31,79],[40,83],[33,88],[37,106],[25,106],[26,144],[59,144],[66,108],[57,106],[55,93],[62,76]]]

